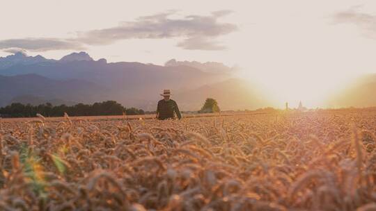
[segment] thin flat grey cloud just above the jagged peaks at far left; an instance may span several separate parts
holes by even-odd
[[[24,38],[0,40],[0,49],[15,48],[28,51],[84,49],[83,45],[75,40],[61,40],[56,38]]]

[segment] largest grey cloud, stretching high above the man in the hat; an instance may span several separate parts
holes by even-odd
[[[229,10],[212,12],[210,16],[189,15],[184,18],[171,18],[175,12],[165,12],[137,18],[134,22],[123,22],[119,26],[79,33],[80,42],[101,45],[127,39],[166,39],[182,38],[178,44],[183,49],[221,50],[214,41],[221,35],[237,31],[235,24],[221,23],[219,17],[228,15]],[[199,46],[201,44],[202,46]]]

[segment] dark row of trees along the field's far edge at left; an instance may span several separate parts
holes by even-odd
[[[36,117],[36,114],[41,114],[45,117],[62,117],[64,112],[71,117],[145,114],[142,109],[125,108],[116,101],[104,101],[102,103],[94,103],[93,105],[79,103],[72,106],[54,106],[51,103],[41,105],[12,103],[11,105],[0,108],[0,117]]]

